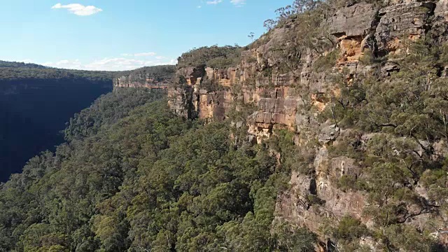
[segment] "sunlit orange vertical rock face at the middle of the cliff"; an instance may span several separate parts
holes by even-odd
[[[179,116],[225,120],[236,100],[233,88],[238,86],[241,100],[258,108],[249,118],[258,141],[269,137],[274,125],[291,130],[295,127],[298,101],[295,88],[290,87],[293,79],[287,74],[266,77],[253,73],[251,64],[242,64],[229,69],[179,69],[177,75],[186,80],[186,86],[169,90],[169,104]],[[211,90],[207,83],[216,84],[219,90]],[[274,87],[267,87],[266,83]],[[193,111],[186,112],[184,108]]]

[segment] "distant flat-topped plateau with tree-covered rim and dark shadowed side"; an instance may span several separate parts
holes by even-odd
[[[172,78],[163,69],[153,72]],[[130,73],[0,62],[0,181],[36,153],[62,144],[59,132],[69,118],[111,92],[113,78]]]

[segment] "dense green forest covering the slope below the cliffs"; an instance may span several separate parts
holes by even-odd
[[[235,145],[228,122],[174,116],[163,92],[99,98],[66,144],[2,185],[0,250],[312,251],[307,230],[269,228],[289,168],[267,146]]]

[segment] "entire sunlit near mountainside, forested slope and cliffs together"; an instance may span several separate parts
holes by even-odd
[[[0,251],[448,251],[448,3],[276,13],[76,113],[1,184]]]

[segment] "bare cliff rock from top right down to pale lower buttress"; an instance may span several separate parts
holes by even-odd
[[[340,72],[348,69],[344,78],[350,83],[354,76],[371,70],[361,60],[367,50],[375,56],[393,54],[404,47],[403,41],[423,38],[435,25],[447,27],[447,13],[446,0],[437,3],[411,0],[382,8],[372,3],[356,3],[340,8],[323,22],[328,26],[328,41],[332,45],[320,52],[305,48],[300,53],[290,53],[286,56],[299,63],[280,68],[278,48],[293,47],[288,32],[298,32],[295,27],[299,24],[293,20],[262,36],[256,46],[243,50],[241,61],[232,67],[177,69],[179,81],[169,87],[169,105],[179,116],[207,120],[224,120],[242,106],[252,105],[255,111],[245,123],[256,142],[271,137],[276,129],[286,129],[295,132],[297,146],[318,143],[311,164],[313,176],[293,172],[290,190],[280,195],[277,202],[277,213],[318,234],[325,224],[323,219],[337,223],[347,214],[360,218],[368,226],[372,221],[362,216],[367,204],[365,195],[344,192],[337,186],[337,180],[346,174],[359,176],[359,164],[351,158],[328,154],[328,146],[346,132],[329,122],[321,125],[317,120],[330,104],[328,94],[340,93],[334,78],[319,70],[322,67],[319,59],[338,52],[337,59],[328,67]],[[440,32],[446,34],[446,30]],[[388,78],[392,72],[400,71],[400,65],[386,62],[378,71],[381,78]],[[310,198],[320,201],[316,204]]]

